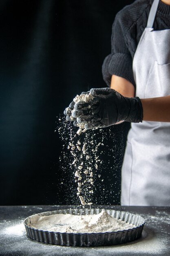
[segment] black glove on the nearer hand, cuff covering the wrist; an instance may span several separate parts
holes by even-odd
[[[110,88],[91,89],[94,97],[87,103],[75,103],[73,118],[86,129],[107,127],[119,121],[142,122],[143,108],[138,97],[128,98]],[[88,106],[87,106],[88,105]]]

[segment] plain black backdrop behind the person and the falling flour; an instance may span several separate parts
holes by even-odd
[[[132,2],[0,1],[0,205],[79,203],[69,170],[59,164],[64,142],[55,128],[76,94],[106,87],[101,67],[113,20]],[[96,204],[120,202],[128,128],[104,130]]]

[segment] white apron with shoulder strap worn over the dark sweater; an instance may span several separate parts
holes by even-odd
[[[170,29],[154,31],[154,0],[133,59],[136,96],[170,95]],[[121,205],[170,206],[170,123],[131,124],[122,166]]]

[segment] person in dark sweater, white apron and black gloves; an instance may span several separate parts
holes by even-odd
[[[170,206],[170,0],[136,0],[115,18],[102,67],[108,88],[91,108],[65,111],[87,129],[131,122],[121,173],[121,205]]]

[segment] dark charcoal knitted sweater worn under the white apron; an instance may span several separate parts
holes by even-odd
[[[135,85],[132,60],[146,27],[152,2],[153,0],[136,0],[117,13],[112,27],[111,54],[105,58],[102,65],[103,78],[108,86],[113,74]],[[159,1],[153,28],[155,30],[170,28],[170,5]]]

